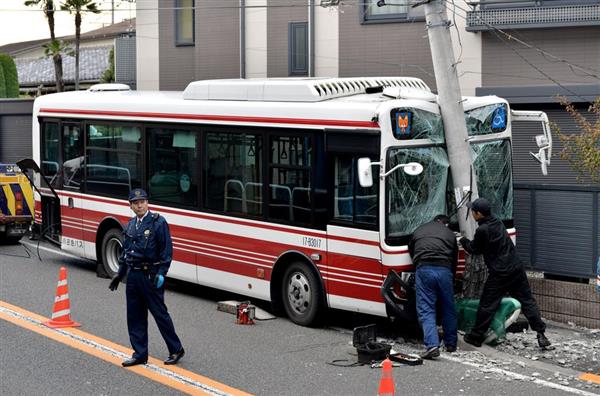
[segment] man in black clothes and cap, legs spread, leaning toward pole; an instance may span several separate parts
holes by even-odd
[[[472,241],[463,237],[460,244],[469,254],[483,254],[488,278],[479,300],[475,325],[470,333],[465,334],[465,342],[481,346],[502,297],[509,294],[521,303],[529,325],[537,332],[539,346],[549,347],[550,341],[544,335],[546,325],[531,295],[527,274],[504,224],[492,216],[490,203],[485,198],[477,198],[467,203],[467,207],[471,209],[479,227]]]

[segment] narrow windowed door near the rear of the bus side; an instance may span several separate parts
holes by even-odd
[[[62,224],[61,248],[84,256],[84,227],[81,200],[83,180],[83,135],[79,123],[62,125],[62,184],[60,217]]]

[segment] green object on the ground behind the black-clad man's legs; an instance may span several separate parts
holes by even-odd
[[[468,333],[475,324],[479,299],[459,299],[456,301],[458,329]],[[496,310],[494,319],[485,335],[485,343],[496,345],[506,338],[506,328],[514,323],[521,313],[521,303],[514,298],[504,297]]]

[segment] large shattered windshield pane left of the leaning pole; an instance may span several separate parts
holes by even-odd
[[[398,164],[418,162],[423,173],[410,176],[402,169],[386,178],[387,239],[390,244],[405,243],[406,237],[435,215],[446,213],[448,156],[443,147],[392,148],[387,169]]]

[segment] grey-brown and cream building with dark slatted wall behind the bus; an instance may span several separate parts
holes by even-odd
[[[423,7],[387,3],[138,0],[138,88],[182,90],[213,78],[390,75],[419,77],[435,90]],[[578,133],[557,95],[584,113],[600,96],[600,0],[445,4],[463,95],[493,94],[515,109],[544,110],[563,132]],[[534,270],[593,277],[600,187],[576,180],[558,155],[556,135],[542,176],[529,155],[537,151],[537,134],[515,126],[519,252]],[[574,222],[567,203],[587,220]]]

